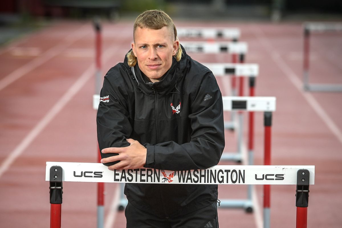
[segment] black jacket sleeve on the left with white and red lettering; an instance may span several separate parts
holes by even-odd
[[[96,124],[97,141],[101,150],[108,147],[126,147],[130,144],[126,141],[132,133],[132,125],[129,121],[128,94],[123,90],[124,86],[113,86],[108,79],[108,71],[104,78],[100,92],[100,104],[98,105]],[[119,80],[115,81],[118,84]],[[102,158],[118,155],[117,153],[101,153]],[[116,162],[108,162],[110,166]]]

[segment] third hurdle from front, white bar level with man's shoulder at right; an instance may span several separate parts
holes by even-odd
[[[216,76],[235,76],[235,77],[248,77],[249,78],[249,96],[254,96],[255,78],[259,75],[258,64],[232,64],[232,63],[203,63],[207,66]],[[239,90],[239,96],[243,96],[243,90]],[[234,110],[232,110],[234,111]],[[253,164],[252,150],[253,150],[253,112],[249,112],[249,137],[248,149],[251,154],[250,159],[247,161],[249,165]],[[242,143],[243,143],[243,115],[239,112],[238,115],[238,128],[235,122],[225,122],[226,129],[237,129],[237,152],[223,153],[221,160],[233,160],[242,162]]]

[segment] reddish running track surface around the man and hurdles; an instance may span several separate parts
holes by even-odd
[[[208,23],[176,26],[241,29],[247,63],[260,65],[257,96],[276,96],[274,165],[315,165],[308,227],[342,226],[342,93],[302,90],[301,23]],[[103,24],[103,75],[130,49],[133,21]],[[312,36],[310,81],[342,83],[342,34]],[[49,184],[45,162],[96,162],[94,30],[91,22],[56,22],[0,50],[1,227],[48,227]],[[182,40],[181,40],[182,41]],[[199,62],[224,62],[225,55],[192,54]],[[229,80],[219,78],[223,95]],[[247,90],[247,87],[246,87]],[[229,113],[225,116],[229,119]],[[247,119],[247,115],[245,116]],[[245,133],[247,128],[245,127]],[[254,164],[263,163],[263,114],[255,114]],[[225,151],[236,149],[226,132]],[[220,164],[234,164],[221,162]],[[96,184],[63,183],[62,227],[96,227]],[[125,227],[116,211],[118,185],[106,184],[105,227]],[[295,227],[295,186],[271,187],[271,227]],[[254,213],[219,207],[221,227],[262,227],[262,187],[255,187]],[[219,199],[246,198],[245,186],[220,186]]]

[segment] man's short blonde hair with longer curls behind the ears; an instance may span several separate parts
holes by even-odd
[[[133,39],[134,39],[134,33],[137,27],[140,28],[151,28],[151,29],[161,29],[164,26],[173,28],[174,31],[174,40],[178,40],[177,38],[177,30],[176,26],[174,25],[171,17],[167,15],[164,11],[161,10],[147,10],[140,14],[134,22],[134,27],[133,27]],[[179,62],[182,57],[182,48],[181,45],[178,45],[177,52],[175,54],[176,60]],[[133,51],[130,51],[127,53],[127,58],[128,58],[128,65],[130,67],[133,67],[137,63],[137,59],[133,53]]]

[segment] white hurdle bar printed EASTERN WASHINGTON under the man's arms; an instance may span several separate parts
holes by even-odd
[[[295,185],[297,171],[307,169],[310,171],[310,185],[315,184],[314,165],[215,165],[205,170],[168,171],[143,168],[111,171],[102,163],[46,162],[46,181],[50,181],[51,177],[54,179],[54,172],[50,173],[53,166],[62,167],[64,182]],[[174,172],[176,175],[170,175]],[[265,178],[265,174],[271,175]]]

